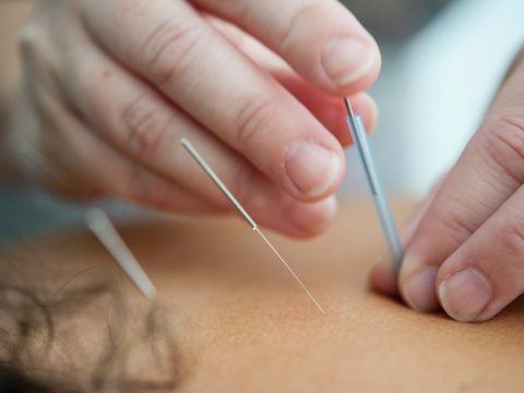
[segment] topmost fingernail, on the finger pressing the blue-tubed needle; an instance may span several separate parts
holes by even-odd
[[[344,38],[329,43],[322,52],[322,67],[338,86],[345,86],[368,73],[374,64],[377,50],[371,44]]]

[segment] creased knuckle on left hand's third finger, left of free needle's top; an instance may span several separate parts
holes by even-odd
[[[140,96],[123,107],[127,147],[141,157],[154,156],[169,130],[169,116],[152,97]]]

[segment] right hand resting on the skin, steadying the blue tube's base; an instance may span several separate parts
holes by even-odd
[[[391,267],[372,285],[397,288],[415,310],[486,321],[524,293],[524,51],[483,124],[403,234],[398,286]]]

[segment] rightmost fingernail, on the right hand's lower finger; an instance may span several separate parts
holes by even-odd
[[[465,269],[439,285],[439,297],[445,312],[462,322],[474,321],[491,300],[491,286],[475,269]]]

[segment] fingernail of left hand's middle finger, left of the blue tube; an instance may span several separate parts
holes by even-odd
[[[341,158],[312,142],[295,142],[287,150],[285,170],[306,196],[322,195],[338,176]]]

